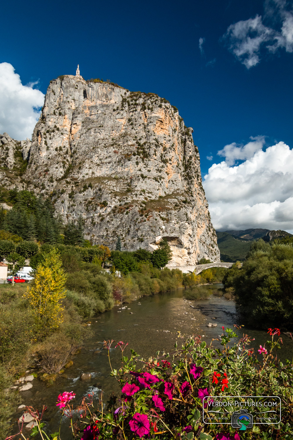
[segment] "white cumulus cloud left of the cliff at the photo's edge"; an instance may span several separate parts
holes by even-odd
[[[0,133],[17,140],[32,137],[45,96],[34,85],[23,85],[11,64],[0,63]]]

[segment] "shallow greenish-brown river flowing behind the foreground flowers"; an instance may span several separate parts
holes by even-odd
[[[219,286],[221,285],[209,287],[215,289]],[[106,401],[112,391],[119,391],[116,380],[109,376],[110,367],[107,350],[103,349],[104,340],[128,342],[124,356],[130,357],[130,348],[133,348],[148,359],[149,356],[154,356],[157,350],[161,353],[171,352],[175,341],[178,341],[178,330],[187,336],[199,334],[203,340],[210,343],[212,338],[221,335],[221,326],[233,328],[233,324],[241,324],[235,311],[234,301],[213,295],[207,300],[188,301],[183,298],[183,293],[184,290],[174,290],[152,297],[142,297],[128,304],[127,309],[121,310],[125,304],[119,305],[91,319],[92,336],[74,359],[72,367],[65,370],[65,373],[60,375],[49,388],[35,379],[32,389],[20,393],[22,403],[39,410],[46,405],[44,420],[48,424],[48,429],[51,432],[58,431],[60,422],[60,413],[56,407],[58,394],[73,391],[78,402],[82,396],[91,392],[94,392],[97,399],[103,389]],[[191,308],[190,305],[197,309]],[[217,327],[207,327],[208,323],[217,323]],[[244,328],[238,334],[241,336],[243,332],[255,338],[251,344],[255,351],[268,339],[265,331]],[[284,345],[279,350],[279,357],[282,360],[292,359],[293,341],[286,335],[281,336]],[[219,346],[218,341],[214,341],[213,344]],[[111,363],[113,368],[119,369],[121,351],[119,347],[114,348],[115,345],[113,344],[111,348]],[[82,373],[90,373],[92,378],[89,381],[82,381],[80,380]],[[21,410],[18,410],[16,415],[19,417],[21,414]],[[63,440],[72,438],[68,425],[69,420],[65,418],[61,427]]]

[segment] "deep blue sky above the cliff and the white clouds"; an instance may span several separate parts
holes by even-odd
[[[250,136],[265,136],[264,151],[293,146],[292,1],[16,0],[1,9],[0,62],[22,84],[38,81],[45,93],[79,63],[85,79],[157,93],[193,127],[203,175],[225,160],[225,145],[241,149]],[[229,166],[250,158],[236,154]]]

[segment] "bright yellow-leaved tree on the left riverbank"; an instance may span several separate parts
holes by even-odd
[[[64,285],[67,275],[62,267],[60,253],[52,249],[44,254],[36,268],[32,287],[28,288],[24,298],[29,301],[36,319],[54,330],[63,322],[61,300],[65,298]]]

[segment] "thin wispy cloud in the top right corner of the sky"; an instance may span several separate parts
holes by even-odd
[[[267,0],[264,6],[264,18],[256,15],[241,20],[230,25],[223,36],[229,50],[247,69],[260,62],[262,49],[269,53],[275,53],[281,48],[293,52],[292,2],[287,4],[285,0]],[[279,30],[271,26],[272,22]]]

